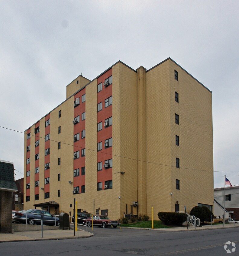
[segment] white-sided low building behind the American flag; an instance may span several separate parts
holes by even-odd
[[[229,213],[230,218],[239,220],[239,186],[235,187],[226,187],[226,200],[225,200],[225,209]],[[224,187],[219,187],[214,189],[214,199],[222,206],[224,209]],[[216,210],[217,208],[215,208]],[[217,211],[214,212],[218,213]],[[219,214],[215,214],[219,215]],[[225,218],[227,215],[225,215]]]

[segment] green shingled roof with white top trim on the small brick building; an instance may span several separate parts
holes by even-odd
[[[18,190],[14,180],[13,163],[3,160],[0,160],[0,190]]]

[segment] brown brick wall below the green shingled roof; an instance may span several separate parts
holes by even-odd
[[[12,192],[0,191],[0,233],[12,233]]]

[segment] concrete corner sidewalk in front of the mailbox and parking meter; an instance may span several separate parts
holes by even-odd
[[[76,231],[76,236],[74,236],[73,229],[70,229],[70,230],[54,229],[54,230],[44,230],[43,238],[41,237],[41,235],[42,235],[41,230],[21,231],[21,232],[15,232],[13,234],[0,234],[0,243],[16,242],[16,241],[38,241],[38,240],[83,238],[83,237],[91,237],[93,233],[79,230],[79,231]]]

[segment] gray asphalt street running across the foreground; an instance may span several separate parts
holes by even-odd
[[[239,255],[237,228],[171,232],[96,227],[93,233],[82,239],[1,243],[0,255]],[[232,254],[224,250],[227,241],[236,244]]]

